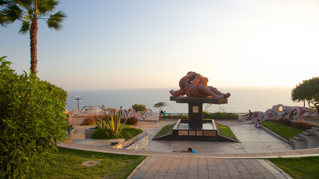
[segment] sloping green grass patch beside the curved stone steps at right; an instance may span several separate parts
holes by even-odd
[[[286,140],[289,140],[290,138],[293,138],[305,131],[287,125],[278,124],[273,121],[263,121],[263,126],[285,138]]]

